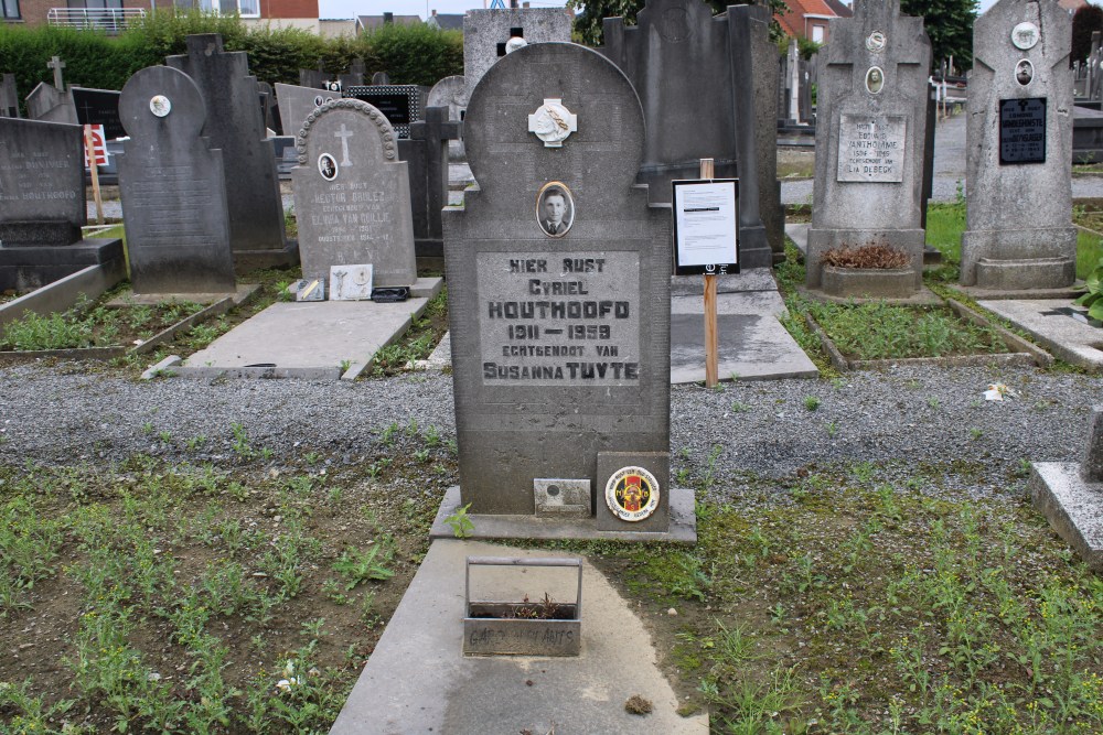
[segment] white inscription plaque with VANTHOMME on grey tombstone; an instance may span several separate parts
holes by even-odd
[[[908,118],[902,115],[840,115],[837,181],[903,181]]]

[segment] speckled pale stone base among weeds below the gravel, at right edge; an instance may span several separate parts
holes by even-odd
[[[1030,497],[1058,536],[1103,572],[1103,483],[1089,483],[1075,462],[1036,462]]]

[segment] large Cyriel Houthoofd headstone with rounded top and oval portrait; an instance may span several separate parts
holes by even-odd
[[[635,185],[635,91],[592,50],[527,45],[464,130],[478,187],[442,214],[462,502],[667,530],[671,217]]]

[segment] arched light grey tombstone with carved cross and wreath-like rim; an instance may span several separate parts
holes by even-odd
[[[413,285],[409,174],[387,118],[356,99],[326,102],[307,116],[296,148],[291,183],[303,278],[370,263],[374,285]]]

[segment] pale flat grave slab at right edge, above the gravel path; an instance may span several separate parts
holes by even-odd
[[[1059,311],[1084,311],[1073,306],[1071,300],[1015,299],[977,303],[1029,332],[1054,357],[1072,365],[1103,371],[1103,329],[1084,324]]]

